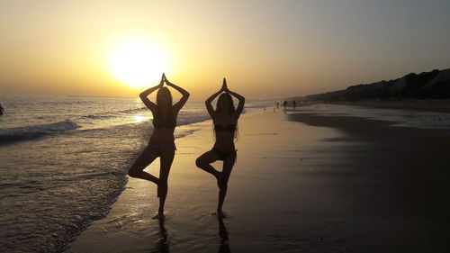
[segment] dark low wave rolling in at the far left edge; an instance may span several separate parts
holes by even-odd
[[[80,126],[76,124],[76,122],[66,120],[48,124],[4,128],[0,129],[0,144],[14,142],[16,140],[34,139],[55,132],[74,130],[79,127]]]

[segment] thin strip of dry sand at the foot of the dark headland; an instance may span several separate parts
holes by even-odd
[[[354,105],[373,108],[450,113],[450,100],[429,100],[429,101],[404,100],[400,102],[389,102],[389,101],[330,102],[330,103],[322,102],[320,104],[341,104],[341,105]]]

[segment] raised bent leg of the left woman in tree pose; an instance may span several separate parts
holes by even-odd
[[[144,149],[139,157],[134,161],[133,165],[128,170],[128,176],[146,179],[155,184],[159,183],[159,179],[144,171],[150,163],[157,158],[157,153],[152,149]]]

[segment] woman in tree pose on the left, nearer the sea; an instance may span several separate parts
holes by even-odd
[[[172,95],[167,86],[175,88],[183,96],[176,104],[172,105]],[[148,99],[148,95],[157,90],[157,103]],[[166,79],[165,74],[161,77],[159,85],[143,91],[140,95],[142,102],[153,114],[153,134],[148,141],[148,146],[139,155],[134,164],[130,167],[128,175],[146,179],[157,185],[157,197],[159,198],[159,209],[154,218],[164,218],[164,203],[167,195],[167,178],[170,167],[175,156],[176,117],[178,112],[186,103],[189,93],[180,86],[175,86]],[[160,158],[159,178],[144,171],[157,157]]]

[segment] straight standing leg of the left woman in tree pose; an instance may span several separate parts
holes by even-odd
[[[159,184],[157,185],[157,196],[159,197],[159,209],[158,213],[163,214],[164,212],[164,203],[166,203],[167,196],[167,179],[170,172],[170,167],[172,166],[172,162],[175,157],[175,149],[166,149],[161,154],[161,168],[159,170]]]

